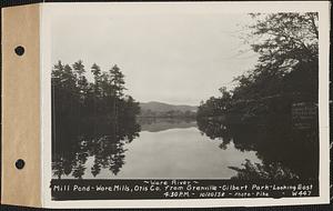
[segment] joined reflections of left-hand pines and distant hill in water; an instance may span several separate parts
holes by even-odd
[[[104,178],[118,175],[125,163],[125,145],[138,138],[140,131],[159,132],[196,125],[193,119],[174,118],[141,118],[138,122],[125,119],[118,124],[102,118],[84,122],[62,121],[53,131],[53,178],[82,179],[85,173],[95,178],[102,170],[110,173]],[[88,163],[89,159],[92,161]]]

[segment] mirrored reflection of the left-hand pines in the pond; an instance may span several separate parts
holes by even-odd
[[[104,123],[85,125],[80,128],[81,134],[64,133],[64,129],[59,129],[52,145],[53,177],[61,179],[63,175],[71,175],[82,179],[90,157],[93,158],[90,169],[93,177],[102,169],[109,169],[117,175],[125,163],[125,143],[133,141],[140,132],[140,125],[134,119],[119,123],[118,125],[109,123],[108,127]],[[65,124],[62,127],[67,127]]]

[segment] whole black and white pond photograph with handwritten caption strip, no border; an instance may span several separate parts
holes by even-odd
[[[319,12],[206,4],[54,7],[53,200],[319,197]]]

